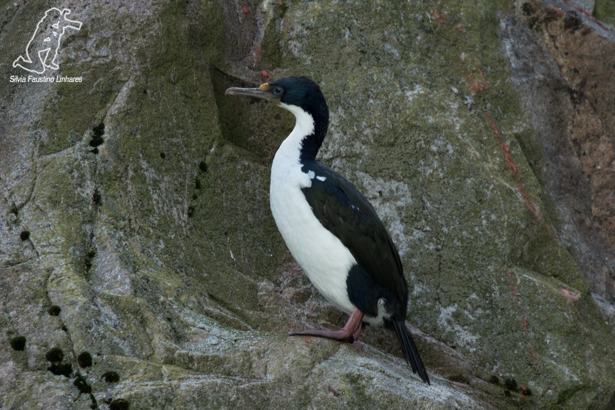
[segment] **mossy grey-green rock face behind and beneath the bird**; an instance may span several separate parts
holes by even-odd
[[[77,2],[33,76],[80,82],[12,67],[47,8],[2,6],[0,408],[612,408],[613,32],[508,3]],[[384,329],[286,336],[345,318],[269,213],[292,116],[224,90],[296,74],[431,387]]]

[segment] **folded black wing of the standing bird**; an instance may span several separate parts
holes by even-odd
[[[400,307],[397,313],[405,320],[408,285],[402,262],[374,208],[359,190],[331,168],[311,161],[304,164],[303,171],[315,173],[312,185],[301,191],[316,218],[351,251],[376,285],[397,297]]]

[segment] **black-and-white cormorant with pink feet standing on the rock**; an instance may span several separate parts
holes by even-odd
[[[316,155],[329,124],[319,85],[303,76],[282,77],[258,88],[231,87],[225,95],[258,98],[292,112],[295,127],[271,165],[269,202],[288,250],[312,285],[349,315],[339,330],[306,329],[360,346],[363,322],[392,329],[413,373],[431,384],[405,325],[408,284],[391,236],[363,194]]]

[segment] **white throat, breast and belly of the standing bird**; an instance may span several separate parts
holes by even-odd
[[[314,132],[314,120],[300,108],[281,105],[295,114],[296,124],[277,150],[271,167],[271,212],[288,250],[315,288],[338,309],[351,314],[354,306],[348,299],[346,277],[356,261],[316,219],[301,192],[318,177],[313,171],[301,171],[299,162],[301,140]]]

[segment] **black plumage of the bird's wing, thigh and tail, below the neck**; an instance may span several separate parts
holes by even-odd
[[[384,318],[384,326],[395,331],[403,357],[413,372],[418,372],[430,384],[415,341],[405,325],[408,283],[397,248],[384,224],[370,202],[346,178],[315,160],[303,164],[306,171],[324,177],[312,179],[311,186],[301,189],[314,216],[357,260],[346,280],[350,301],[371,317],[378,314],[378,301],[384,301],[384,308],[391,313],[389,318]]]

